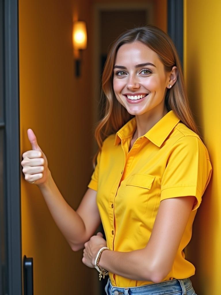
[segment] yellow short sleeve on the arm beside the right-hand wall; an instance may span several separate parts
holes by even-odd
[[[208,151],[196,136],[183,136],[174,143],[161,180],[161,199],[195,196],[196,210],[210,181],[212,165]]]

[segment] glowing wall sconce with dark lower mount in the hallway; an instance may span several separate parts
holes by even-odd
[[[80,64],[82,60],[82,50],[87,48],[86,22],[78,21],[73,24],[73,46],[75,57],[75,75],[80,76]]]

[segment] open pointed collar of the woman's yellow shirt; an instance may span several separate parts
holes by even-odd
[[[175,115],[173,110],[169,111],[162,117],[144,136],[148,138],[155,145],[160,147],[166,137],[179,123],[180,119]],[[118,145],[122,139],[131,137],[136,128],[136,118],[133,117],[128,121],[115,136],[114,145]]]

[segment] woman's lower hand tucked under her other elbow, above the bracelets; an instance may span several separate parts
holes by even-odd
[[[84,244],[82,262],[91,268],[95,266],[95,259],[98,251],[102,247],[107,247],[107,242],[104,240],[101,232],[98,232],[96,236],[92,236],[88,242]]]

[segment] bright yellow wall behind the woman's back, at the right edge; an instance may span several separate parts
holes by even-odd
[[[184,1],[185,82],[213,167],[187,249],[196,267],[191,279],[200,295],[221,294],[220,12],[220,0]]]

